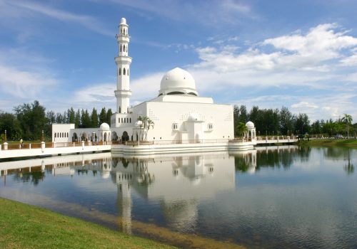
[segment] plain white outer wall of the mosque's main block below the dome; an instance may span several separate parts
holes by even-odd
[[[189,124],[191,113],[196,113],[201,123]],[[154,129],[149,129],[148,140],[192,139],[196,133],[200,139],[233,139],[233,107],[187,102],[144,102],[133,108],[132,119],[147,116],[154,123]],[[178,130],[173,129],[173,123],[178,122]],[[213,129],[208,129],[208,123]],[[201,129],[201,132],[199,130]],[[191,134],[190,134],[191,132]],[[194,132],[194,134],[192,133]]]

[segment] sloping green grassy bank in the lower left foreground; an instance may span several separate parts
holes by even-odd
[[[0,248],[172,248],[0,198]]]

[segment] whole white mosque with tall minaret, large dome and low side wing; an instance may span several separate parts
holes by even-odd
[[[228,142],[234,138],[233,107],[201,97],[192,75],[181,68],[169,70],[161,79],[157,97],[131,107],[129,26],[121,18],[116,35],[116,112],[111,124],[99,128],[74,129],[74,124],[53,124],[52,142],[151,141],[156,144]],[[255,128],[251,137],[255,138]],[[77,140],[78,139],[78,140]]]

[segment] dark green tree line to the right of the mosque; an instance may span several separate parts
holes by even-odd
[[[235,136],[241,133],[242,124],[248,121],[254,123],[258,136],[308,133],[323,137],[332,137],[336,134],[356,137],[357,131],[357,123],[351,124],[351,115],[345,114],[337,120],[316,120],[311,123],[306,113],[294,115],[287,107],[281,107],[279,110],[259,109],[258,106],[253,106],[248,112],[245,105],[235,105],[233,118]]]

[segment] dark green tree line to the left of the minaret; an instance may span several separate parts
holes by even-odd
[[[0,141],[8,140],[39,140],[44,131],[44,137],[51,138],[52,124],[75,124],[76,128],[95,128],[106,122],[110,124],[113,112],[109,108],[101,108],[97,112],[93,108],[88,110],[74,110],[73,107],[64,113],[46,111],[46,108],[35,100],[31,104],[14,107],[14,113],[0,111]]]

